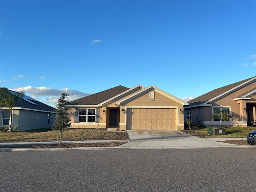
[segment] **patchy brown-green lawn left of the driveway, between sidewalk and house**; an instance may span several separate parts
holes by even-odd
[[[58,132],[50,128],[0,132],[0,142],[44,142],[57,141]],[[129,139],[127,132],[108,132],[106,129],[67,129],[62,132],[62,141],[119,140]]]

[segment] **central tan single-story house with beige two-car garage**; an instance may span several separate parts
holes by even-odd
[[[114,88],[70,102],[72,128],[184,130],[187,102],[155,86]]]

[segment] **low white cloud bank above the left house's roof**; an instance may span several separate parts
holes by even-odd
[[[30,96],[44,104],[48,104],[53,106],[56,104],[58,98],[60,98],[62,93],[68,94],[68,100],[73,101],[90,94],[80,92],[77,90],[63,88],[63,89],[52,89],[49,87],[32,87],[32,86],[25,86],[20,88],[11,89],[13,91],[24,91],[27,96]]]

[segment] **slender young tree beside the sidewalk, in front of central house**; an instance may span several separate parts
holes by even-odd
[[[62,131],[71,125],[70,114],[68,113],[68,109],[66,107],[66,104],[68,104],[67,97],[68,94],[62,93],[58,99],[55,109],[55,120],[52,126],[54,130],[57,130],[60,133],[60,145],[62,141]]]

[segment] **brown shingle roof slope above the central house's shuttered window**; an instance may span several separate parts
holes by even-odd
[[[118,94],[129,90],[129,88],[124,86],[116,86],[114,88],[104,90],[74,101],[69,102],[69,105],[98,105]]]

